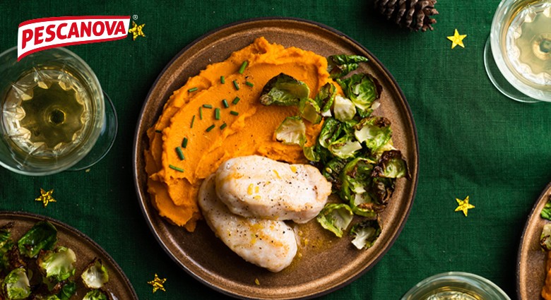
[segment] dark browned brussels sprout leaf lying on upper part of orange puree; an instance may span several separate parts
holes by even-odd
[[[302,98],[307,98],[309,95],[310,89],[306,83],[280,73],[264,85],[260,103],[262,105],[298,105]]]

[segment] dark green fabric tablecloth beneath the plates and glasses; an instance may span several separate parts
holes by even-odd
[[[54,217],[97,241],[122,267],[140,299],[221,299],[180,269],[155,241],[138,207],[131,149],[143,100],[180,49],[221,25],[288,16],[336,28],[389,69],[417,125],[417,196],[401,235],[379,263],[323,299],[399,299],[439,272],[487,277],[516,298],[516,252],[528,213],[551,179],[551,106],[499,94],[482,49],[499,0],[439,1],[432,32],[408,32],[377,16],[372,1],[0,1],[0,52],[33,18],[137,15],[146,37],[69,47],[93,68],[119,115],[114,148],[90,172],[22,176],[0,169],[0,209]],[[465,49],[446,36],[468,35]],[[57,203],[33,201],[54,188]],[[455,198],[470,196],[468,217]],[[146,284],[157,272],[167,292]]]

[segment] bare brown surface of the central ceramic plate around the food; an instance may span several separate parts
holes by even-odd
[[[317,54],[359,54],[369,58],[360,71],[372,73],[384,88],[377,114],[392,121],[393,140],[410,167],[412,179],[399,179],[391,203],[381,215],[383,233],[367,251],[357,251],[345,237],[337,239],[309,222],[302,231],[311,242],[302,247],[300,258],[282,272],[272,273],[246,263],[219,241],[205,222],[193,233],[166,222],[150,205],[143,150],[146,130],[153,126],[163,104],[208,64],[223,61],[256,37],[285,47],[300,47]],[[200,37],[170,61],[156,80],[141,112],[134,140],[134,175],[139,202],[153,234],[165,251],[197,280],[242,299],[311,298],[343,287],[381,259],[405,223],[417,186],[418,148],[413,117],[403,93],[389,71],[365,47],[343,33],[319,23],[290,18],[261,18],[233,23]],[[259,284],[255,284],[255,280]]]

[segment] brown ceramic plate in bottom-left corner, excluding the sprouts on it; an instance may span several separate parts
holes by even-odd
[[[138,300],[134,288],[130,284],[124,272],[105,250],[95,243],[88,236],[85,236],[77,229],[70,227],[67,224],[45,217],[34,215],[27,212],[6,212],[0,211],[0,226],[4,226],[8,222],[13,222],[11,234],[14,240],[23,236],[25,232],[39,221],[47,220],[57,228],[57,245],[71,248],[76,254],[76,272],[77,279],[81,272],[86,268],[88,263],[94,258],[100,258],[109,272],[109,281],[102,287],[105,292],[116,296],[119,300]],[[82,298],[87,290],[82,284],[78,284],[77,295]]]

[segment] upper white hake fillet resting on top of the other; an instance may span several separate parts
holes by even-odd
[[[218,198],[237,215],[297,223],[316,217],[331,194],[331,183],[315,167],[258,155],[221,164],[215,186]]]

